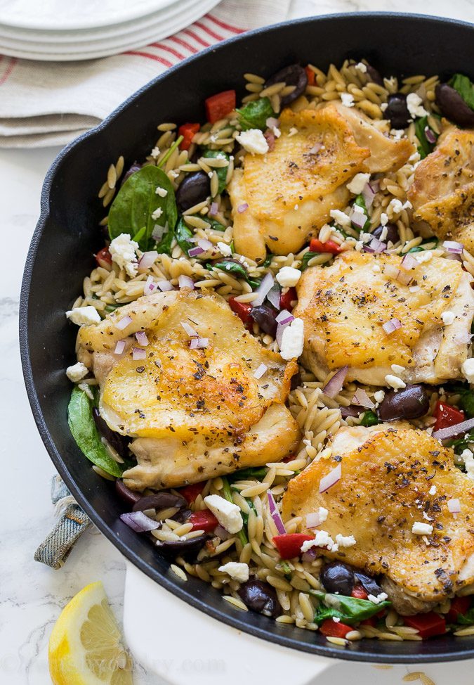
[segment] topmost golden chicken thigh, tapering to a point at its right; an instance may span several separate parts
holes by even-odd
[[[228,188],[237,252],[253,260],[297,252],[341,210],[346,185],[358,172],[400,168],[413,152],[407,140],[390,140],[363,113],[330,103],[321,110],[286,109],[281,136],[265,155],[246,155]],[[237,208],[248,204],[244,212]]]

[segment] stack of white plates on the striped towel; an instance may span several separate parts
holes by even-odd
[[[219,0],[0,0],[0,53],[88,60],[162,40]]]

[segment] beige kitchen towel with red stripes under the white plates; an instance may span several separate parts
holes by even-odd
[[[65,144],[103,120],[150,79],[180,60],[289,15],[291,0],[224,0],[159,43],[82,62],[0,55],[0,147]]]

